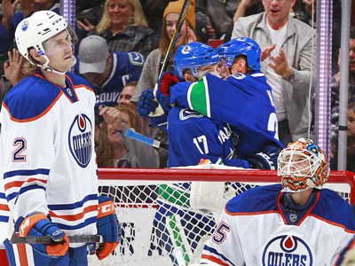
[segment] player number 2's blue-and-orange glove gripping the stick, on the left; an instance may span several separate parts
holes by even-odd
[[[15,230],[20,232],[20,237],[27,236],[50,236],[53,245],[31,244],[40,254],[58,257],[67,253],[69,239],[64,231],[61,231],[55,223],[43,214],[29,215],[27,218],[20,217],[15,223]]]

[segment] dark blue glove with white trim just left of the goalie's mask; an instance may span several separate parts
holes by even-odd
[[[264,170],[275,170],[277,168],[277,159],[279,150],[277,146],[266,145],[263,152],[256,153],[256,155],[247,160],[254,168]]]

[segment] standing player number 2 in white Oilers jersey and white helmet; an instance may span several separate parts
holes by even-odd
[[[88,82],[67,72],[75,63],[75,33],[62,16],[35,12],[20,22],[15,39],[34,74],[4,98],[3,189],[15,231],[54,242],[23,246],[6,239],[6,252],[12,266],[85,266],[87,244],[69,243],[67,236],[102,235],[99,259],[111,254],[121,237],[113,202],[98,196],[95,95]]]

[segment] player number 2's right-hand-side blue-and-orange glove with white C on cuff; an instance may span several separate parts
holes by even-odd
[[[99,260],[112,254],[120,243],[122,233],[117,216],[114,213],[114,202],[106,197],[99,196],[98,234],[104,237],[105,243],[96,248]]]

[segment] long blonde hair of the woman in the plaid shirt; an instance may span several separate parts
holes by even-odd
[[[116,2],[117,0],[106,0],[104,6],[104,13],[102,14],[101,20],[99,20],[99,24],[96,27],[98,34],[102,33],[107,28],[112,26],[110,17],[108,15],[108,5],[110,2]],[[142,5],[139,0],[126,0],[133,9],[133,16],[130,19],[129,24],[132,26],[145,26],[148,27],[148,23],[146,22],[146,16],[143,12]]]

